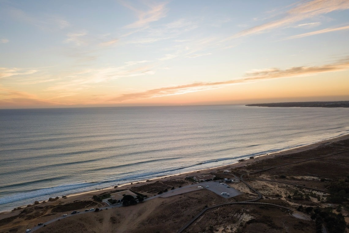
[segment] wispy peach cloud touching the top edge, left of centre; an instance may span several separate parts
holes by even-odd
[[[144,11],[130,5],[128,2],[121,1],[121,4],[136,13],[138,20],[134,23],[128,24],[125,28],[147,28],[151,22],[158,21],[159,19],[166,16],[166,3],[150,4],[144,2],[144,5],[148,10]]]

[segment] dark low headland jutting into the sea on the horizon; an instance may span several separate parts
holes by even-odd
[[[307,107],[307,108],[349,108],[349,101],[254,103],[254,104],[246,104],[246,106],[257,106],[257,107]]]

